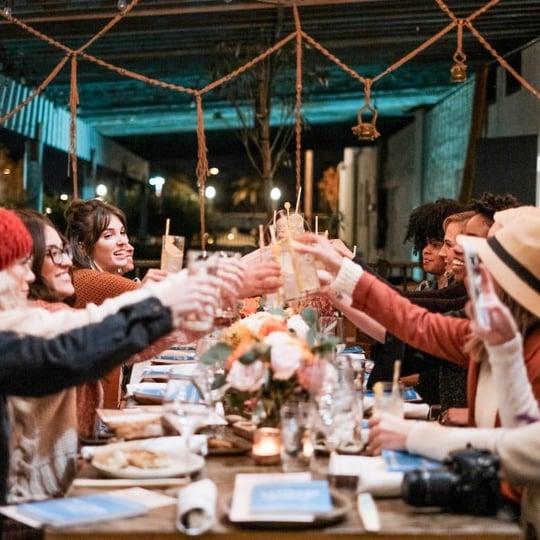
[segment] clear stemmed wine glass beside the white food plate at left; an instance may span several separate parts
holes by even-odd
[[[185,474],[189,475],[191,438],[210,418],[211,411],[197,373],[172,369],[163,396],[163,420],[182,435]]]

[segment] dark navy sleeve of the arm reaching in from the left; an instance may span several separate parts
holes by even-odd
[[[38,397],[99,379],[171,329],[170,310],[149,298],[52,339],[0,332],[0,392]]]

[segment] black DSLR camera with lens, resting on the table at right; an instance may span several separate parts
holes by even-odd
[[[405,473],[403,500],[413,506],[439,506],[448,512],[493,516],[502,506],[499,458],[467,447],[451,452],[440,469]]]

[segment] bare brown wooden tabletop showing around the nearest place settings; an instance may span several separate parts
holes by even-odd
[[[226,495],[230,494],[236,473],[278,472],[279,467],[256,466],[249,455],[241,457],[208,457],[201,471],[202,477],[212,478],[219,489],[218,514],[212,530],[204,538],[219,540],[303,540],[314,537],[361,536],[379,540],[410,538],[411,540],[517,540],[520,529],[515,523],[492,518],[469,515],[445,514],[432,509],[419,509],[406,505],[400,499],[378,499],[382,531],[368,533],[358,516],[355,496],[350,492],[351,511],[341,523],[321,529],[287,530],[286,528],[262,530],[238,527],[227,521],[222,508]],[[99,477],[97,471],[87,465],[80,477]],[[69,495],[82,495],[95,488],[72,488]],[[45,531],[46,540],[168,540],[185,535],[175,528],[176,507],[169,506],[150,511],[148,514],[127,520],[97,523],[65,530]]]

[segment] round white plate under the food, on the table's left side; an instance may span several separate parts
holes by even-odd
[[[192,475],[204,467],[204,458],[189,453],[186,459],[182,451],[183,444],[181,437],[157,437],[144,441],[113,443],[94,453],[92,465],[109,478],[169,478]],[[167,464],[159,468],[142,469],[132,465],[118,467],[114,460],[111,461],[116,452],[129,452],[133,449],[159,452],[166,458]]]

